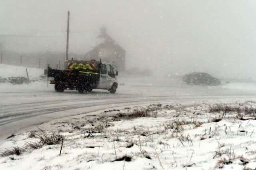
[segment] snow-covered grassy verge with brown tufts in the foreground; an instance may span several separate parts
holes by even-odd
[[[51,123],[44,136],[55,133],[56,145],[42,145],[40,130],[4,141],[2,154],[12,147],[22,152],[2,156],[0,169],[255,169],[255,111],[255,101],[200,102],[80,115]]]

